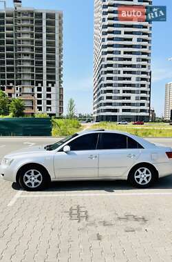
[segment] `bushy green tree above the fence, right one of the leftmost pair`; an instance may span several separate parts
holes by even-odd
[[[24,102],[21,99],[12,99],[10,103],[10,113],[12,117],[23,117],[25,110]]]

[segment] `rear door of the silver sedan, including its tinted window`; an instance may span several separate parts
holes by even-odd
[[[98,143],[98,177],[122,177],[138,159],[140,148],[125,134],[102,133]]]

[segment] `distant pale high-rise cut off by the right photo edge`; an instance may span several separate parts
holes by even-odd
[[[172,110],[172,82],[166,83],[165,86],[165,105],[164,105],[165,120],[171,119],[171,110]]]

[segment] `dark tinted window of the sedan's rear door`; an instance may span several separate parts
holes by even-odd
[[[98,149],[125,149],[127,137],[124,134],[103,133],[100,138]]]

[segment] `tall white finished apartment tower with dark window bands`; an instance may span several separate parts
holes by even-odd
[[[94,119],[149,121],[151,23],[118,21],[118,6],[151,0],[94,0]]]

